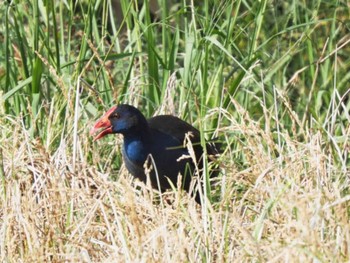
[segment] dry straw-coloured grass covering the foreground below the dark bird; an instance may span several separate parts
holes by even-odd
[[[276,140],[235,107],[238,118],[221,112],[229,125],[219,133],[228,143],[240,138],[247,168],[235,165],[227,146],[220,201],[203,207],[179,192],[159,203],[124,169],[109,180],[96,165],[113,155],[99,157],[102,142],[89,163],[86,127],[74,170],[73,136],[50,152],[29,141],[19,119],[2,119],[0,261],[349,261],[349,174],[337,168],[325,139],[310,130],[301,143],[282,130]]]

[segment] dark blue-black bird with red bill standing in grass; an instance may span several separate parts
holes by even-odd
[[[134,177],[147,182],[145,163],[148,162],[153,164],[149,172],[153,188],[161,192],[171,189],[171,184],[176,186],[181,174],[182,187],[190,193],[192,178],[199,174],[198,169],[203,168],[204,149],[196,128],[172,115],[158,115],[147,120],[134,106],[119,104],[110,108],[90,130],[90,135],[95,135],[93,141],[115,133],[123,136],[123,160]],[[192,158],[184,144],[186,136],[193,147]],[[219,144],[207,142],[206,151],[207,156],[218,155]],[[214,175],[217,175],[217,171],[210,173],[210,176]],[[203,183],[200,185],[203,187]],[[191,195],[201,204],[198,187]]]

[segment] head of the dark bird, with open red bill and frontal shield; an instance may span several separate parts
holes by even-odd
[[[147,129],[147,121],[142,113],[135,107],[121,104],[110,108],[92,127],[90,135],[101,130],[94,137],[94,141],[107,134],[121,133],[123,135]]]

